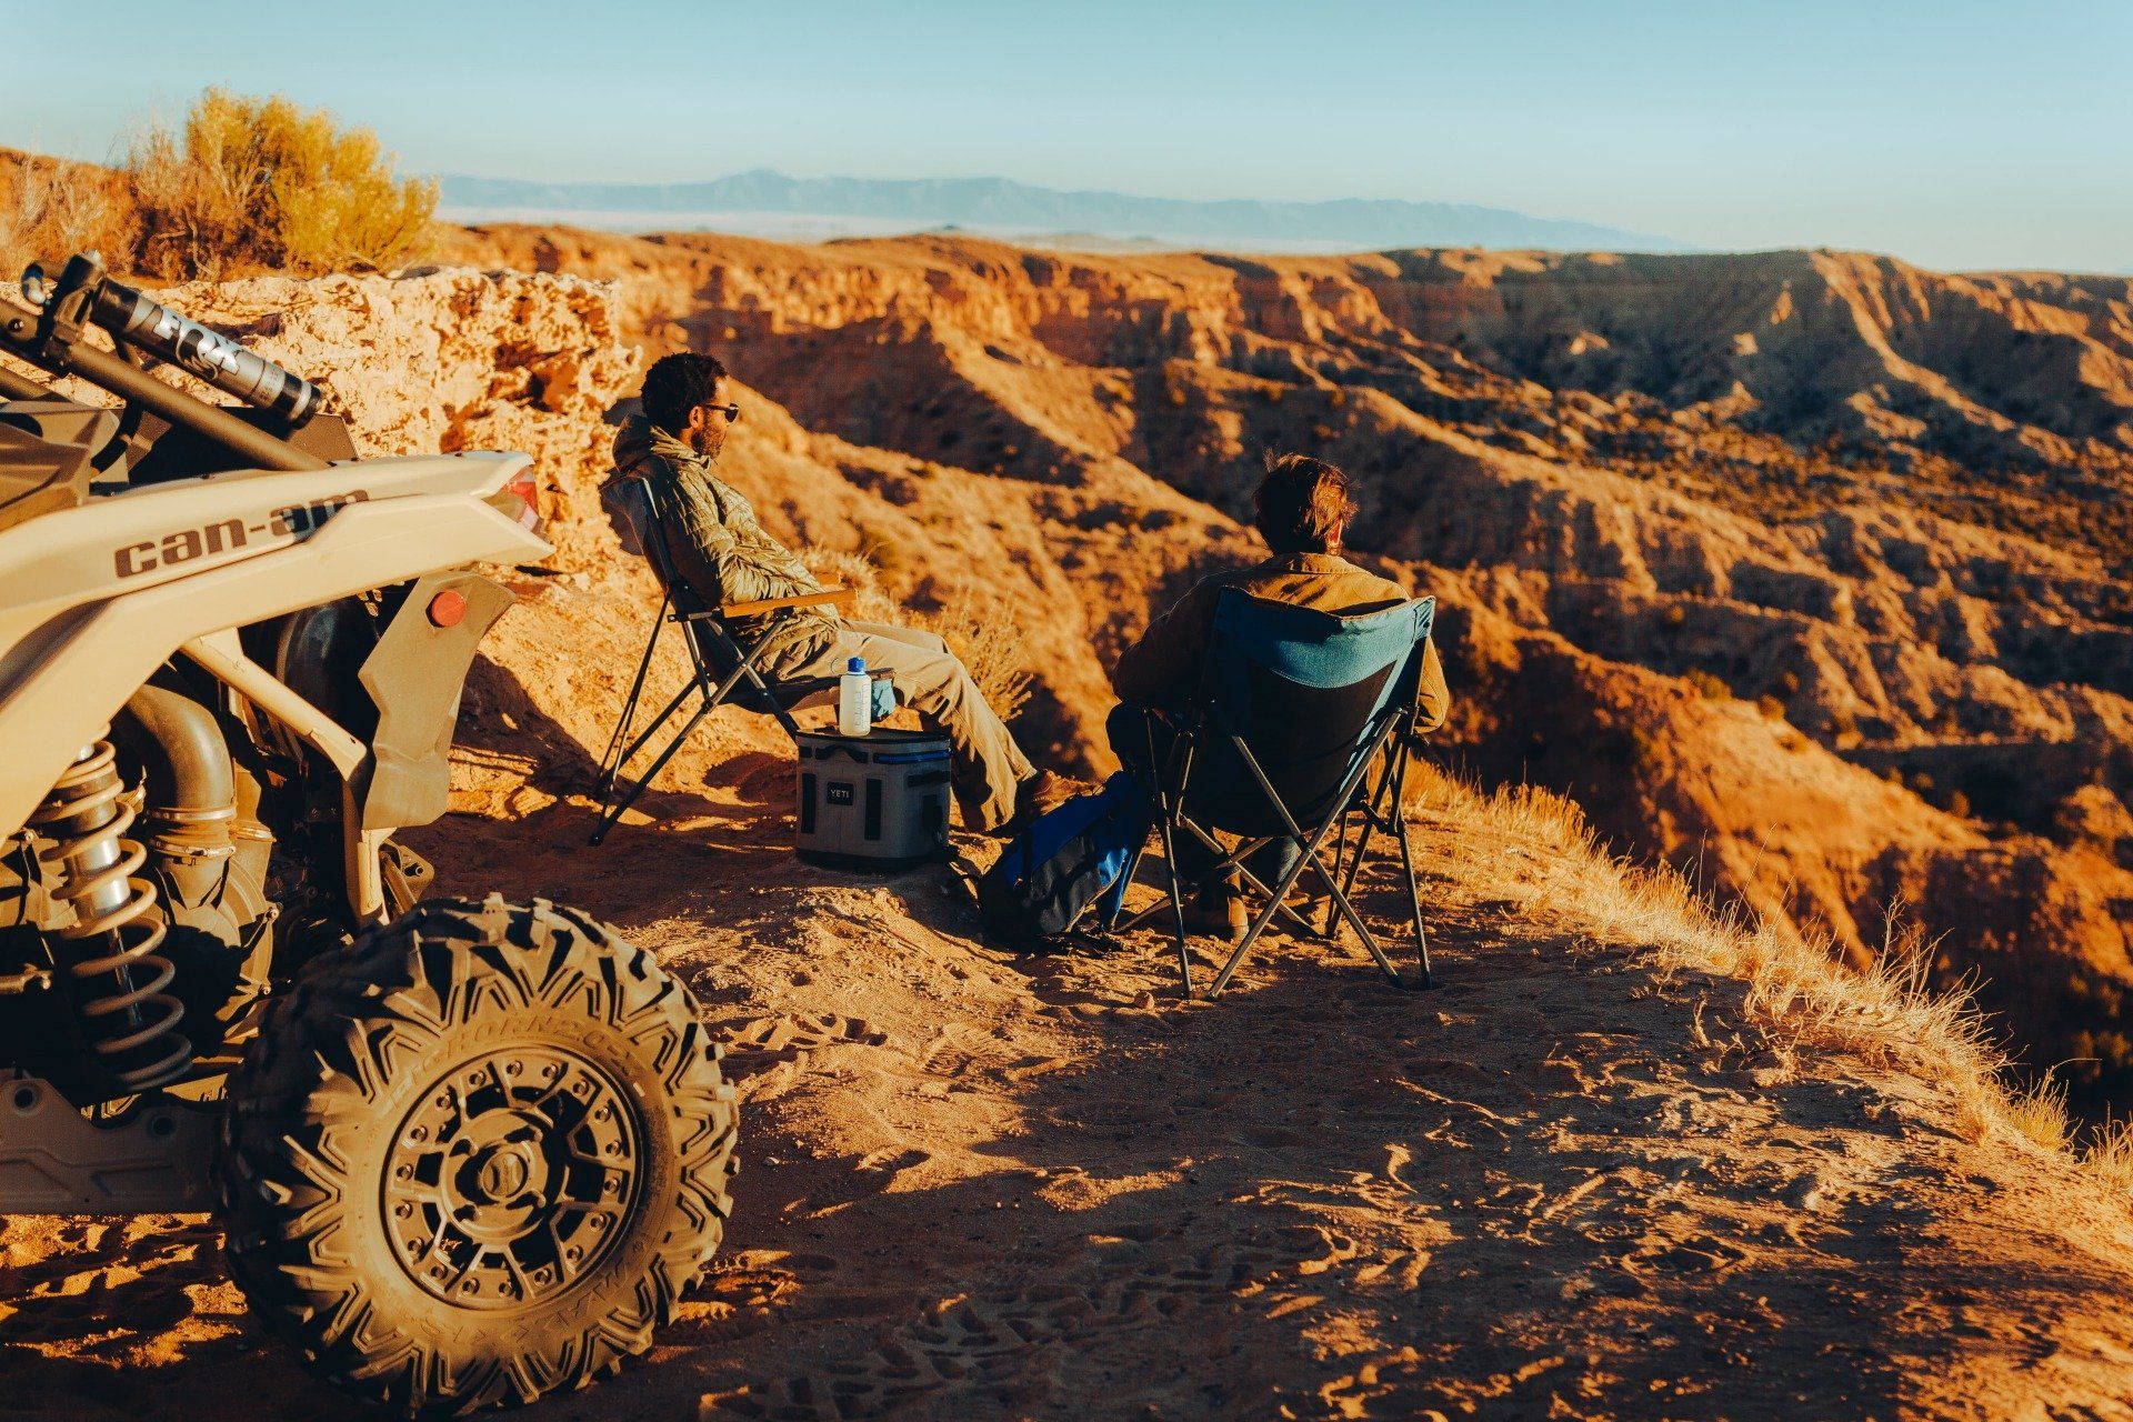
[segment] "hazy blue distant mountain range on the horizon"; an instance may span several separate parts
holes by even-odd
[[[1531,217],[1465,203],[1192,203],[1122,192],[1062,192],[1005,177],[787,177],[770,168],[708,183],[529,183],[446,175],[442,217],[576,222],[614,230],[717,228],[836,237],[964,228],[998,237],[1088,235],[1175,247],[1361,252],[1378,247],[1546,247],[1691,252],[1687,243],[1593,222]]]

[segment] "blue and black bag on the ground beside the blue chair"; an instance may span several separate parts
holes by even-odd
[[[977,880],[985,938],[1037,953],[1058,947],[1098,900],[1105,917],[1116,915],[1152,823],[1148,795],[1126,772],[1039,814]]]

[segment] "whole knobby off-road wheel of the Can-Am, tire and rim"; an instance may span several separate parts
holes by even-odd
[[[311,1371],[397,1411],[578,1388],[719,1245],[717,1062],[689,991],[593,919],[422,904],[314,964],[230,1079],[230,1273]]]

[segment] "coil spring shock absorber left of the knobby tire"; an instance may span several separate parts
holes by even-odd
[[[164,989],[177,976],[162,947],[156,885],[134,878],[147,851],[126,831],[141,814],[126,795],[117,753],[98,740],[51,787],[30,823],[58,844],[45,851],[55,872],[51,895],[75,908],[66,940],[68,996],[109,1081],[145,1092],[186,1072],[192,1043],[177,1023],[186,1006]]]

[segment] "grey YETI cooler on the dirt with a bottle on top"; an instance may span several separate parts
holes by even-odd
[[[947,857],[947,736],[800,731],[796,853],[843,870]]]

